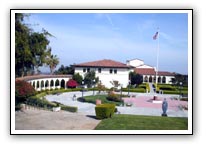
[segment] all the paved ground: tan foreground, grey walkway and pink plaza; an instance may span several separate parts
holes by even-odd
[[[92,95],[93,92],[85,92],[84,96]],[[73,95],[81,97],[81,92],[68,92],[60,95],[47,95],[49,101],[57,101],[69,106],[77,106],[78,112],[71,113],[66,111],[52,112],[44,110],[24,110],[15,112],[16,130],[92,130],[100,120],[95,119],[95,105],[73,101]],[[149,102],[152,94],[133,93],[136,98],[125,98],[125,102],[132,102],[132,107],[117,107],[120,114],[150,115],[160,116],[162,114],[161,103],[154,104]],[[188,117],[188,111],[180,109],[180,104],[186,102],[172,100],[168,95],[160,95],[159,99],[167,98],[169,117]]]

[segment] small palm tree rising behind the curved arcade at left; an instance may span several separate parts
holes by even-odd
[[[53,74],[54,69],[59,64],[59,59],[57,55],[50,55],[47,57],[46,64],[50,67],[50,74]]]

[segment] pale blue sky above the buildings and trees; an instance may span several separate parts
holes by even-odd
[[[152,37],[159,27],[159,70],[188,73],[187,13],[32,13],[26,23],[55,36],[50,46],[59,66],[134,58],[156,66],[157,40]]]

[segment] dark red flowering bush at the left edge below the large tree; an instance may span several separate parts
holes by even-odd
[[[34,87],[29,83],[21,80],[15,81],[15,99],[16,103],[21,103],[26,100],[26,98],[36,94]]]

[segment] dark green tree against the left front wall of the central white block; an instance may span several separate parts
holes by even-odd
[[[95,80],[95,82],[93,80]],[[85,74],[84,82],[85,84],[87,84],[88,88],[96,84],[98,81],[99,81],[99,78],[95,77],[95,71],[90,71]]]

